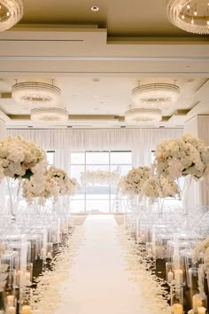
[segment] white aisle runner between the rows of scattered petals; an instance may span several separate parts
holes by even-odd
[[[56,314],[145,314],[128,280],[113,216],[88,216],[85,240]]]

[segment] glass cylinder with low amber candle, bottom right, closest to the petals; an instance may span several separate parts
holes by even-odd
[[[172,314],[183,313],[183,287],[180,285],[171,286],[171,310]]]

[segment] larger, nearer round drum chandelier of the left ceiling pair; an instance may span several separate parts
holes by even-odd
[[[12,98],[22,105],[57,105],[61,91],[45,82],[19,82],[12,86]]]

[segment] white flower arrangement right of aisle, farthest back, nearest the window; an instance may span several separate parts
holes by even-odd
[[[121,177],[119,188],[122,194],[128,195],[130,198],[141,192],[142,186],[146,180],[151,177],[151,169],[149,167],[138,167],[128,171],[128,175]]]

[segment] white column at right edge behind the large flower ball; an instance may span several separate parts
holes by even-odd
[[[205,145],[209,145],[209,115],[196,115],[185,123],[184,133],[189,133],[194,137],[204,140]],[[190,192],[191,206],[209,205],[209,176],[203,181],[193,182]]]

